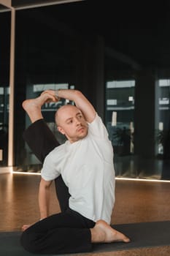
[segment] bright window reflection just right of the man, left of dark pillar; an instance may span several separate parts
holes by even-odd
[[[134,80],[113,80],[106,85],[106,124],[117,176],[127,174],[134,154],[134,88]]]

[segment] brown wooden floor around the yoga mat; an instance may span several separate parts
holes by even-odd
[[[0,174],[0,231],[18,231],[39,219],[39,175]],[[60,211],[52,186],[50,213]],[[112,224],[170,220],[170,183],[116,180],[116,202]],[[86,254],[83,254],[86,255]],[[87,254],[92,255],[92,254]],[[99,255],[99,254],[98,254]],[[100,255],[112,255],[109,252]],[[120,255],[170,255],[170,246],[123,252]]]

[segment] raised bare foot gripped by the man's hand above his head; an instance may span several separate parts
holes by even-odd
[[[26,113],[28,113],[29,118],[31,119],[31,122],[43,118],[41,108],[42,105],[45,104],[45,102],[56,102],[56,98],[51,94],[41,94],[36,99],[26,99],[23,102],[23,109],[26,110]]]

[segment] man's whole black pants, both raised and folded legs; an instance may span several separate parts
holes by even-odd
[[[41,162],[59,145],[43,119],[31,124],[23,137]],[[61,213],[42,219],[24,231],[20,238],[22,246],[28,252],[41,254],[90,252],[90,227],[95,222],[69,208],[69,190],[61,176],[55,179],[55,188]]]

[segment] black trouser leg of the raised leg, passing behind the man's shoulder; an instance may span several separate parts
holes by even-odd
[[[31,148],[31,151],[33,151],[42,163],[44,162],[47,154],[49,154],[55,147],[59,146],[58,141],[45,123],[44,119],[39,119],[31,124],[31,126],[23,133],[23,138]],[[55,190],[61,211],[66,211],[69,207],[70,195],[69,189],[66,187],[61,176],[55,178]]]

